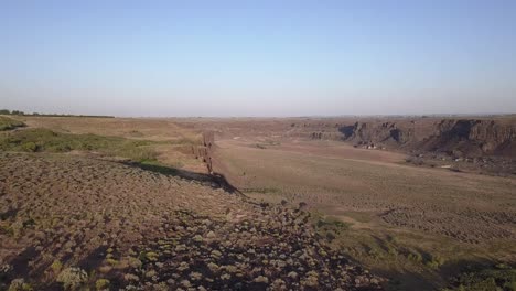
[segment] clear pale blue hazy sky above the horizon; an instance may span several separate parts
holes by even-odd
[[[516,111],[516,1],[0,1],[0,107]]]

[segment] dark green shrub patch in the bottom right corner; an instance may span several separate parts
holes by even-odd
[[[452,280],[449,288],[443,291],[459,290],[516,290],[516,268],[506,265],[496,265],[494,267],[469,270]]]

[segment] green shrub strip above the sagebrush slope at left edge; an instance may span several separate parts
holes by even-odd
[[[128,140],[96,134],[58,133],[49,129],[28,129],[0,137],[0,150],[24,152],[99,151],[133,161],[155,161],[151,141]]]

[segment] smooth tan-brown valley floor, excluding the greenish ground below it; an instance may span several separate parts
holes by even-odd
[[[402,165],[396,163],[401,154],[335,142],[257,149],[226,140],[218,147],[229,181],[249,193],[270,192],[257,197],[304,201],[333,214],[375,213],[397,227],[474,244],[516,239],[513,179]]]

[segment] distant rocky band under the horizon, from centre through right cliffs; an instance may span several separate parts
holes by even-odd
[[[494,117],[362,117],[290,119],[176,119],[192,129],[234,137],[348,141],[376,149],[516,158],[516,119]]]

